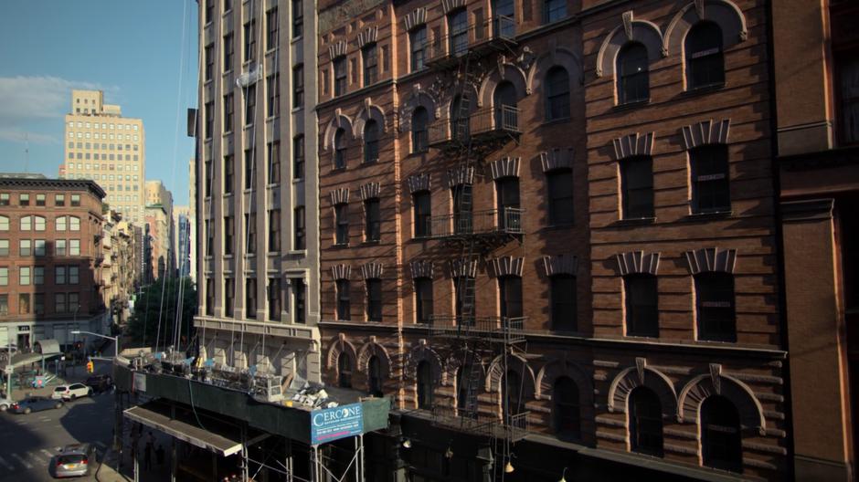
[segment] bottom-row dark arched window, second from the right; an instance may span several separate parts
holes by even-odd
[[[628,412],[632,451],[663,456],[663,407],[656,393],[643,386],[633,389]]]

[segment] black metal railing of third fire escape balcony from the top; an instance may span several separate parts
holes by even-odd
[[[525,209],[505,207],[486,211],[430,216],[427,237],[480,236],[493,234],[521,235]]]

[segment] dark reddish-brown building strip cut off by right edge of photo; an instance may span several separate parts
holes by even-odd
[[[793,462],[797,480],[855,480],[859,5],[778,5],[774,101]]]

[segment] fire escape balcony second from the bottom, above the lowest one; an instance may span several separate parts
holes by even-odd
[[[430,315],[430,330],[434,336],[461,341],[483,339],[514,344],[525,341],[527,317],[485,317]]]

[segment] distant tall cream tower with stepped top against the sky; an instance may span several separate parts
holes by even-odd
[[[65,179],[91,179],[107,194],[104,202],[133,223],[143,222],[146,136],[143,121],[122,117],[104,103],[101,90],[72,90],[66,114]]]

